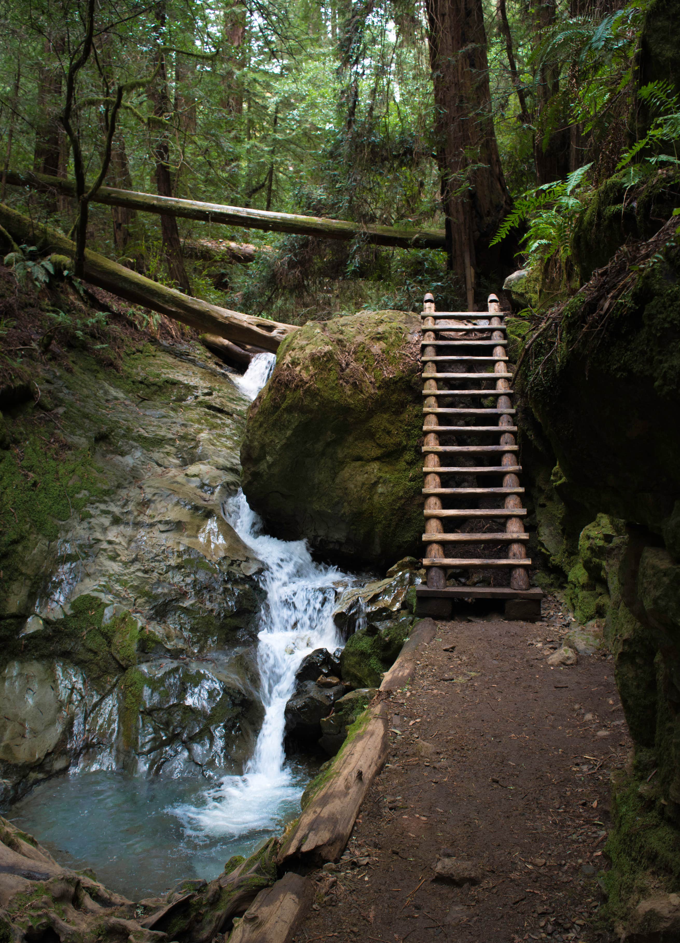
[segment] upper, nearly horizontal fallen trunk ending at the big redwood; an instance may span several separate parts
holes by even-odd
[[[72,180],[62,180],[48,174],[17,174],[15,171],[8,171],[7,182],[16,187],[56,190],[67,196],[75,196],[75,183]],[[265,209],[224,207],[219,203],[199,203],[172,196],[157,196],[154,193],[117,190],[114,187],[100,187],[91,202],[103,203],[108,207],[137,209],[146,213],[167,213],[186,220],[201,220],[204,223],[225,223],[243,229],[264,229],[266,232],[299,233],[320,239],[354,240],[363,237],[375,245],[401,246],[406,249],[446,247],[443,229],[399,229],[395,226],[362,225],[319,216],[296,216],[293,213],[273,213]]]

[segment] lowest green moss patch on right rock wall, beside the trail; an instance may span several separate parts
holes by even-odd
[[[647,788],[646,776],[617,774],[612,782],[612,818],[614,829],[605,845],[611,869],[602,875],[602,884],[606,914],[621,925],[659,884],[668,893],[680,889],[680,835],[666,819],[654,790]]]

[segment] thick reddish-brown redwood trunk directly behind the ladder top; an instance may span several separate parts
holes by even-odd
[[[489,241],[511,206],[491,118],[484,12],[482,0],[425,4],[449,260],[472,309],[475,272],[497,269]]]

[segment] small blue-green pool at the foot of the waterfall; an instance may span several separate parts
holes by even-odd
[[[290,769],[290,768],[289,768]],[[288,789],[279,795],[276,814],[234,828],[232,822],[206,822],[195,828],[202,808],[209,819],[224,785],[205,780],[155,779],[116,772],[86,772],[49,780],[5,812],[18,828],[35,835],[59,864],[94,869],[97,879],[125,897],[155,897],[182,880],[209,881],[232,854],[248,855],[300,813],[300,794],[313,771],[290,769]]]

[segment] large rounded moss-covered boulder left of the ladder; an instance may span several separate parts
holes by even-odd
[[[240,452],[248,502],[276,536],[378,565],[420,555],[419,327],[365,311],[281,345]]]

